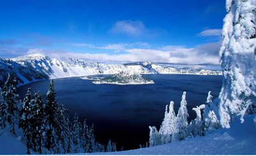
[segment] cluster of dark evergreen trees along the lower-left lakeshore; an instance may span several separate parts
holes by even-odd
[[[77,114],[70,123],[68,111],[63,104],[59,107],[56,102],[53,81],[49,85],[46,105],[40,94],[35,92],[31,96],[31,89],[28,89],[20,109],[16,83],[9,74],[4,89],[0,88],[0,128],[9,124],[15,134],[14,127],[19,117],[19,128],[26,139],[28,154],[32,151],[40,154],[104,152],[105,146],[95,142],[93,125],[88,126],[86,120],[82,125]]]

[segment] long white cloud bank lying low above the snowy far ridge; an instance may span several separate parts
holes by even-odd
[[[102,46],[103,47],[103,46]],[[112,50],[124,50],[125,53],[73,53],[45,51],[46,55],[74,57],[93,62],[135,62],[152,61],[168,62],[173,64],[219,64],[218,51],[220,42],[198,45],[194,48],[183,46],[164,46],[160,48],[124,48],[119,45],[108,45],[104,48]],[[30,52],[33,52],[30,50]],[[42,52],[36,49],[35,52]]]

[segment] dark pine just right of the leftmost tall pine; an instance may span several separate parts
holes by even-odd
[[[20,120],[19,120],[19,128],[22,129],[24,136],[26,137],[26,146],[27,146],[27,153],[30,154],[31,149],[31,89],[28,88],[27,94],[24,97],[23,105],[20,110]]]

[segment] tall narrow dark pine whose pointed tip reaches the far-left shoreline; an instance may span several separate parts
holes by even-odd
[[[49,151],[56,152],[56,149],[54,149],[54,147],[58,146],[56,140],[56,127],[58,126],[58,103],[55,100],[53,80],[51,80],[46,95],[45,116],[47,124],[45,147]]]

